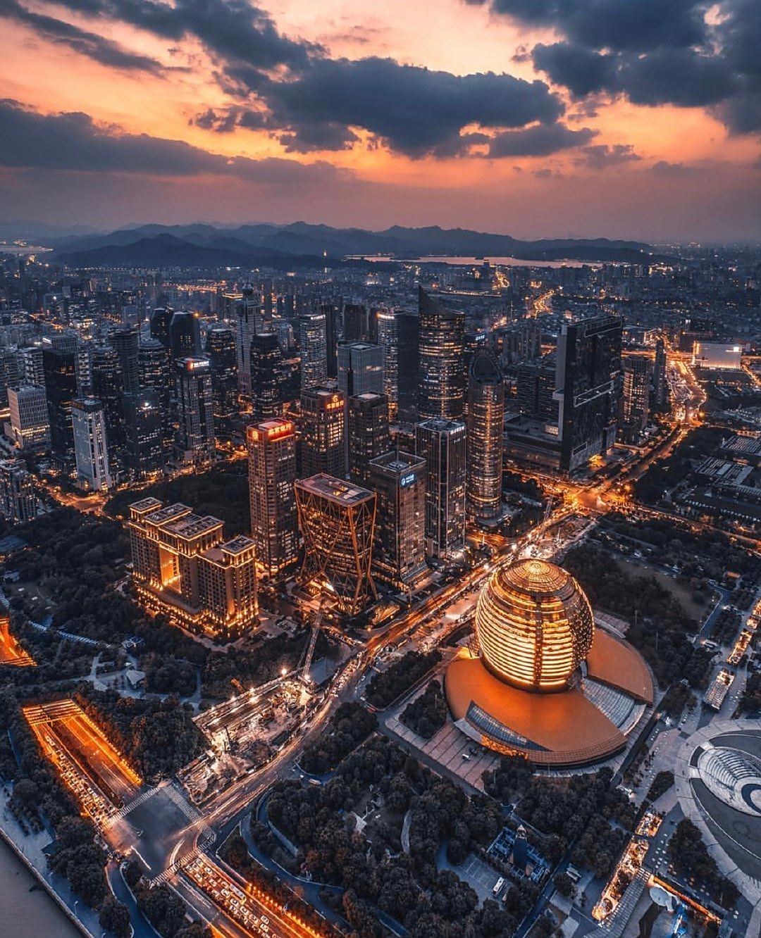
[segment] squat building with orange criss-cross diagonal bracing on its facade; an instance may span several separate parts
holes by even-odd
[[[375,492],[324,473],[296,483],[304,537],[298,579],[318,586],[345,615],[356,615],[377,596],[371,574],[375,502]]]

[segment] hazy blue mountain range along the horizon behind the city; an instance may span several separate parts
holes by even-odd
[[[288,266],[309,259],[338,260],[347,254],[516,257],[522,260],[645,261],[655,255],[640,241],[607,238],[557,238],[521,241],[510,234],[488,234],[438,226],[382,232],[331,228],[297,221],[288,225],[247,224],[221,228],[209,224],[141,225],[110,234],[67,236],[50,241],[70,265],[256,265]]]

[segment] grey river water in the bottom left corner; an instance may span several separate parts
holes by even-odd
[[[29,887],[36,888],[30,892]],[[11,851],[5,840],[0,840],[0,908],[8,934],[13,938],[82,938],[66,915],[45,892],[38,880]],[[12,930],[11,930],[12,929]],[[0,932],[6,933],[0,928]]]

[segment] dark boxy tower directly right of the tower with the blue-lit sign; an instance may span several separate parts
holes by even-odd
[[[465,545],[465,425],[435,418],[415,427],[425,460],[425,552],[451,559]]]

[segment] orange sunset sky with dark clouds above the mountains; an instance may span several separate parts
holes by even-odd
[[[761,238],[761,3],[0,0],[0,218]]]

